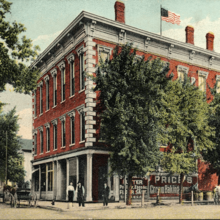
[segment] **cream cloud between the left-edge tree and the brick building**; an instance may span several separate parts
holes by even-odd
[[[18,135],[24,139],[32,139],[32,109],[25,108],[18,112],[16,115],[19,116],[19,131]]]

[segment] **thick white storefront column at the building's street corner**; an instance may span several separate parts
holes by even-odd
[[[86,201],[92,201],[92,154],[87,154]]]

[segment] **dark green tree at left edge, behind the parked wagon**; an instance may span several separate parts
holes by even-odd
[[[5,179],[7,162],[7,179],[12,182],[18,182],[25,176],[25,171],[21,164],[23,157],[19,154],[21,149],[20,137],[17,135],[19,118],[15,114],[16,110],[14,108],[7,114],[0,115],[0,178],[2,180]]]

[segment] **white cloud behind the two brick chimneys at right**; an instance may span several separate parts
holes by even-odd
[[[214,50],[220,52],[220,18],[215,21],[211,21],[210,17],[206,17],[198,22],[192,22],[192,18],[187,18],[181,21],[180,29],[169,29],[163,31],[163,36],[173,38],[182,42],[186,41],[185,28],[187,25],[194,27],[194,45],[206,48],[206,34],[213,32],[215,35],[214,39]]]

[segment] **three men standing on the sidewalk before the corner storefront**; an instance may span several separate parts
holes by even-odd
[[[70,185],[66,189],[66,193],[68,195],[68,203],[67,203],[67,209],[69,209],[69,203],[72,203],[73,207],[73,200],[74,200],[74,194],[77,195],[77,202],[79,203],[79,206],[85,207],[85,188],[81,184],[81,182],[78,182],[76,186],[76,191],[74,189],[73,183],[70,182]],[[103,192],[102,192],[102,197],[103,197],[103,206],[108,205],[108,197],[109,197],[109,187],[107,186],[107,183],[104,183],[103,187]]]

